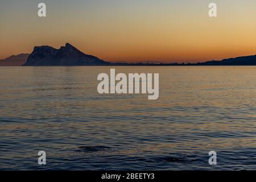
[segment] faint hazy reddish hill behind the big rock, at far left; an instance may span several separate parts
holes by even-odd
[[[10,66],[21,66],[27,61],[29,53],[21,53],[19,55],[13,55],[7,57],[6,59],[0,60],[0,66],[10,67]]]

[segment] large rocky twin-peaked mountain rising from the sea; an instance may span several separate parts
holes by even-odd
[[[65,44],[65,47],[55,49],[50,46],[35,47],[34,51],[28,56],[24,66],[74,66],[74,65],[106,65],[106,61],[98,59],[92,55],[86,55],[73,47]]]

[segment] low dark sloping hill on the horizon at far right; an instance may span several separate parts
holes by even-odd
[[[207,61],[197,63],[197,65],[256,65],[256,55],[229,58],[222,61]]]

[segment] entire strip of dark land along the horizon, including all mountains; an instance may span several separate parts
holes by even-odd
[[[235,66],[256,65],[256,55],[241,56],[202,63],[110,63],[96,56],[86,55],[67,43],[60,49],[50,46],[35,47],[32,53],[22,53],[0,60],[1,66]]]

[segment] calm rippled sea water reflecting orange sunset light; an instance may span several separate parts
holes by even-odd
[[[256,169],[256,67],[115,69],[159,73],[159,99],[98,94],[110,67],[0,67],[0,169]]]

